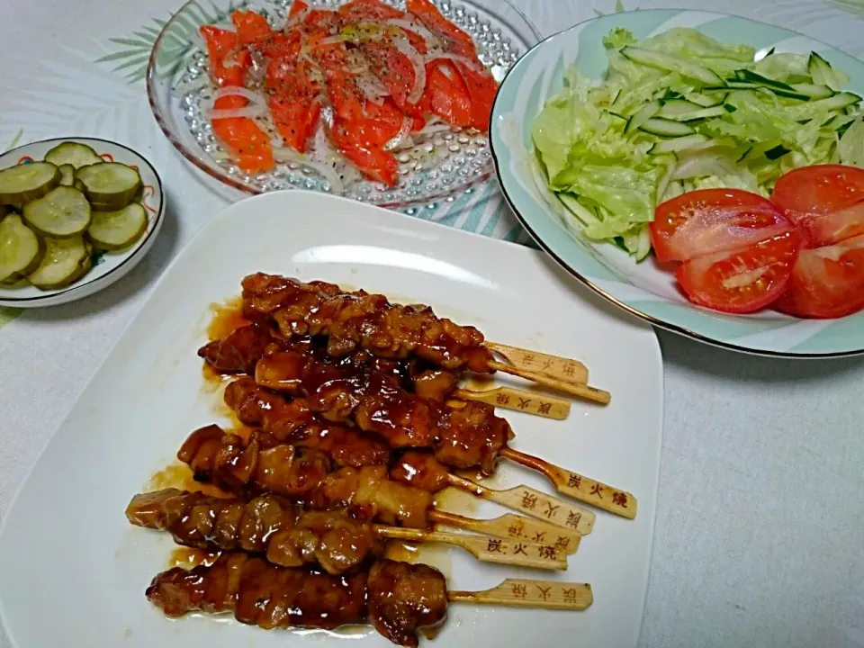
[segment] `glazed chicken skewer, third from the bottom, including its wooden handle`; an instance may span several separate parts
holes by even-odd
[[[262,431],[244,440],[219,426],[199,428],[186,439],[177,458],[192,468],[198,482],[213,483],[244,497],[275,493],[303,500],[313,509],[347,507],[357,517],[390,525],[427,529],[440,524],[520,542],[553,544],[566,553],[575,552],[579,536],[586,533],[581,527],[567,527],[567,531],[554,527],[554,520],[552,524],[518,516],[476,520],[444,513],[432,508],[433,491],[418,488],[408,478],[394,481],[385,465],[347,466],[330,473],[326,456],[317,450],[280,444]],[[424,475],[430,470],[419,461],[417,465]],[[430,483],[429,478],[418,479],[419,485]],[[560,500],[543,497],[566,507]]]

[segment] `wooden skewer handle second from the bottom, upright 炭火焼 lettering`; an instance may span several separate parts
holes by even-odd
[[[422,529],[406,527],[376,525],[374,530],[378,536],[392,540],[437,542],[462,547],[482,563],[559,571],[567,569],[567,554],[555,545],[540,545],[500,538],[446,533],[444,531],[423,531]]]

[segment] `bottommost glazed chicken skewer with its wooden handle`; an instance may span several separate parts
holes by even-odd
[[[537,588],[545,596],[537,597]],[[445,623],[448,602],[583,610],[593,601],[584,583],[508,580],[484,592],[448,592],[444,574],[424,564],[378,560],[368,572],[335,576],[243,553],[222,554],[211,566],[190,571],[162,572],[146,594],[167,617],[232,612],[239,622],[267,630],[371,623],[407,648],[419,646],[420,630]]]

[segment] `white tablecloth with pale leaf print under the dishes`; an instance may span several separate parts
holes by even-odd
[[[0,309],[0,516],[166,262],[226,204],[157,129],[141,81],[157,21],[179,4],[0,0],[0,149],[64,135],[116,139],[168,179],[162,234],[121,282],[66,306]],[[544,35],[599,13],[683,6],[864,56],[864,0],[516,4]],[[426,216],[527,241],[492,185]],[[864,646],[864,358],[764,359],[658,335],[665,434],[640,646]]]

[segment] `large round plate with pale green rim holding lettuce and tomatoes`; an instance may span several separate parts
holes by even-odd
[[[718,347],[785,357],[851,356],[864,353],[864,312],[841,320],[799,320],[776,311],[727,315],[688,302],[674,276],[655,262],[642,263],[617,247],[590,243],[573,231],[561,203],[537,182],[531,124],[545,101],[563,86],[564,67],[602,79],[607,72],[603,37],[615,27],[637,38],[692,27],[727,43],[757,51],[816,51],[850,76],[848,89],[864,94],[864,64],[831,46],[774,25],[738,16],[680,9],[610,14],[580,23],[531,49],[510,70],[492,109],[491,148],[501,189],[537,243],[561,266],[613,302],[652,324]]]

